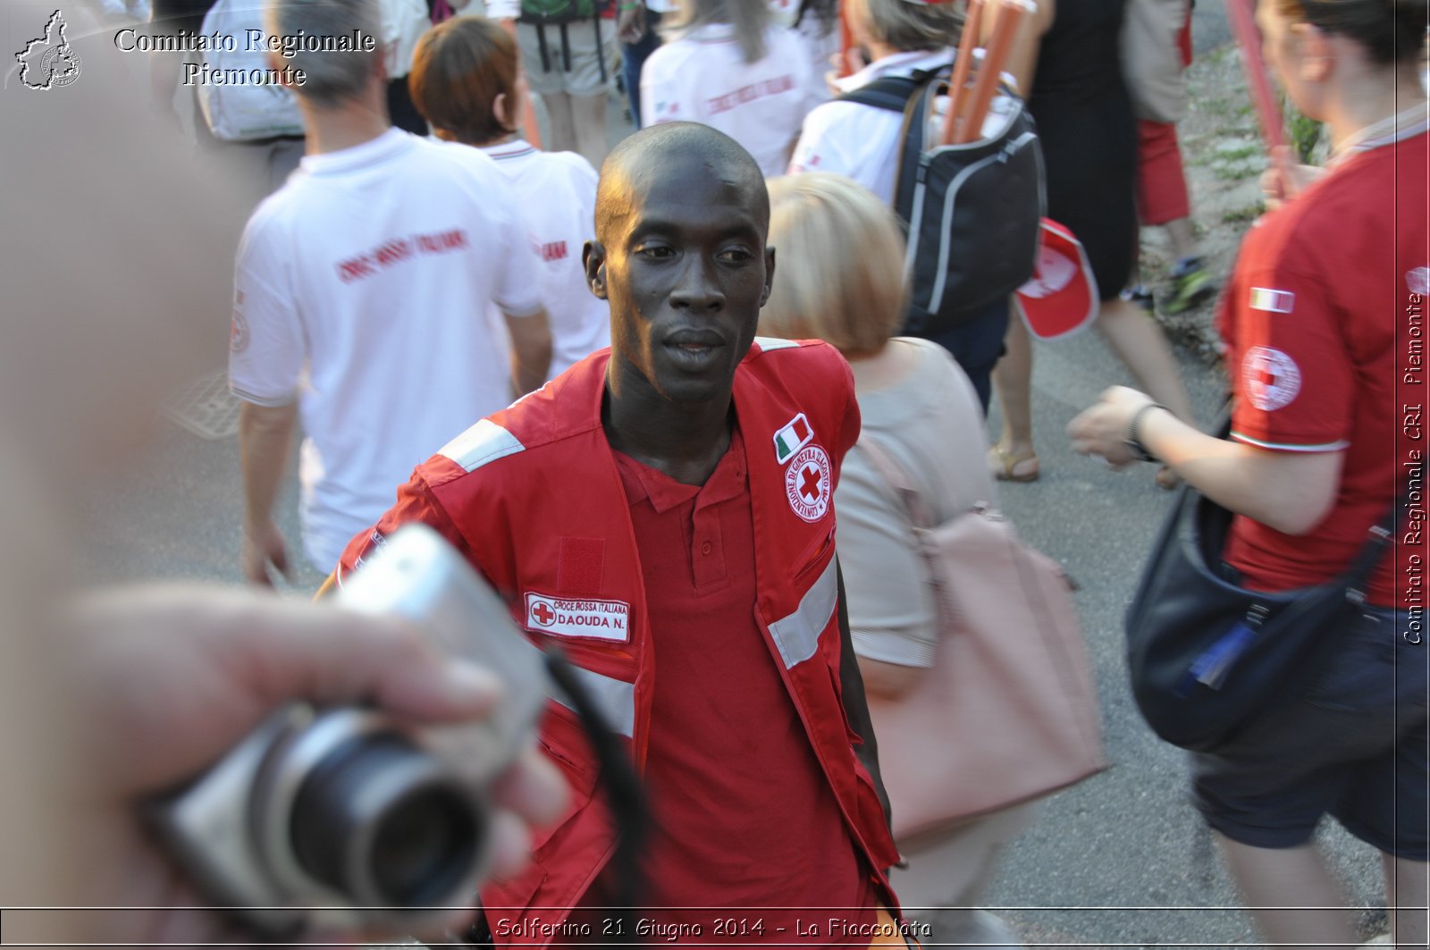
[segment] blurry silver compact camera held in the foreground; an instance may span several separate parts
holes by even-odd
[[[492,670],[503,700],[468,724],[413,728],[373,708],[275,711],[146,817],[216,907],[267,937],[420,930],[475,903],[489,857],[486,790],[531,747],[548,695],[541,652],[430,528],[408,525],[333,598],[418,621]]]

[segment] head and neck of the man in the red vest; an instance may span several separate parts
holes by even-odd
[[[768,238],[765,176],[729,136],[678,122],[611,152],[582,263],[611,305],[612,444],[724,429],[775,273]]]

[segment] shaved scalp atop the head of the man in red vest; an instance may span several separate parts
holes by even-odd
[[[606,156],[596,187],[596,240],[608,242],[612,227],[625,222],[635,202],[656,182],[686,173],[692,165],[735,186],[759,222],[761,233],[768,233],[769,193],[755,159],[738,142],[709,126],[671,122],[622,139]]]

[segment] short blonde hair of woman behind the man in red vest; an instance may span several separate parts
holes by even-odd
[[[829,172],[769,183],[775,283],[759,332],[871,356],[904,322],[904,236],[889,206]]]

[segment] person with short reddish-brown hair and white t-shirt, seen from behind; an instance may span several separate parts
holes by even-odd
[[[412,94],[439,139],[480,147],[511,179],[542,262],[553,378],[611,345],[606,303],[586,288],[581,263],[582,246],[595,236],[596,170],[575,152],[538,152],[516,134],[526,94],[518,59],[511,34],[490,20],[448,20],[418,44]]]

